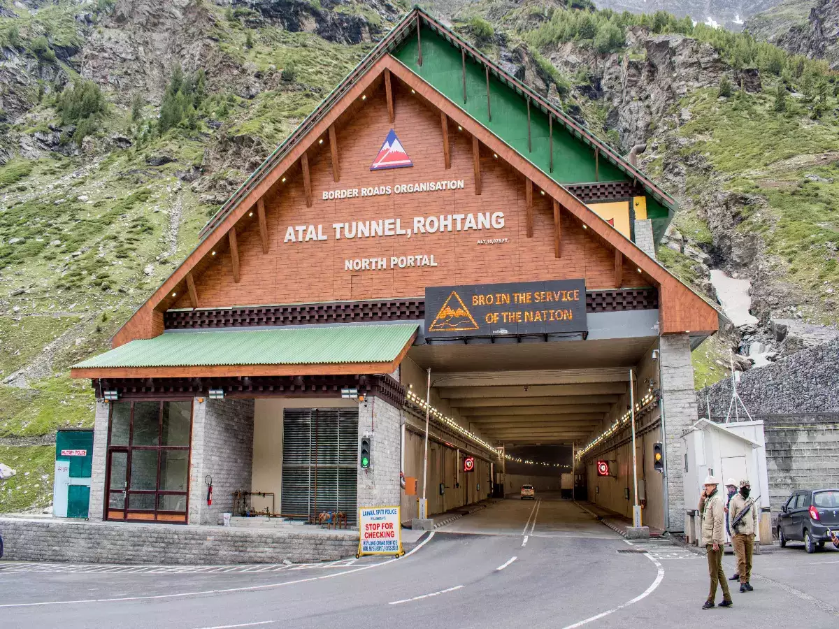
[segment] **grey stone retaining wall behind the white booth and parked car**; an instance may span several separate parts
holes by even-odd
[[[792,491],[839,486],[839,340],[743,373],[737,394],[763,420],[773,513]],[[731,379],[696,392],[696,399],[703,416],[710,402],[711,418],[724,420]]]

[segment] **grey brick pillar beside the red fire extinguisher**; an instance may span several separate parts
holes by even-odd
[[[253,466],[253,399],[195,398],[190,460],[190,524],[219,524],[232,512],[232,492],[250,491]],[[213,501],[205,478],[212,476]]]

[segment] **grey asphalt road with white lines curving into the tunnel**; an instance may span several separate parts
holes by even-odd
[[[732,557],[726,564],[730,573]],[[839,626],[839,551],[777,549],[755,565],[754,592],[701,611],[701,555],[633,546],[571,502],[507,500],[395,560],[203,574],[0,563],[0,626]]]

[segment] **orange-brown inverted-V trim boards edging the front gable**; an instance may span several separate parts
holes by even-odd
[[[425,17],[425,14],[423,16]],[[405,21],[401,23],[403,27],[404,24]],[[399,27],[394,29],[394,31],[398,30]],[[272,158],[269,158],[248,179],[249,183],[246,182],[249,190],[247,194],[244,194],[246,186],[237,190],[231,200],[232,202],[235,201],[234,205],[231,205],[226,213],[222,212],[222,216],[216,217],[215,225],[210,231],[206,232],[204,239],[185,259],[184,263],[164,281],[163,285],[117,333],[113,339],[114,346],[122,345],[135,338],[151,338],[162,333],[163,312],[165,309],[172,307],[172,304],[175,304],[178,294],[183,294],[187,289],[190,289],[192,281],[190,272],[200,268],[201,264],[207,263],[213,247],[216,247],[228,235],[232,227],[246,212],[253,210],[257,201],[281,176],[284,176],[294,164],[300,163],[300,159],[306,151],[317,143],[318,138],[322,138],[326,134],[329,127],[352,106],[353,102],[362,98],[364,92],[375,81],[378,81],[385,70],[399,78],[417,94],[423,96],[431,106],[445,112],[446,116],[462,126],[466,132],[478,138],[487,148],[490,148],[494,153],[498,153],[513,169],[524,174],[525,177],[533,181],[534,185],[558,201],[572,216],[590,227],[591,231],[602,239],[602,242],[606,242],[609,247],[621,252],[626,260],[633,265],[637,265],[639,273],[644,273],[644,277],[648,278],[648,281],[652,281],[659,287],[662,333],[689,332],[698,335],[702,333],[710,334],[717,330],[717,311],[715,309],[711,308],[704,299],[701,299],[699,295],[681,283],[659,263],[636,247],[633,242],[623,237],[606,221],[603,221],[594,211],[587,208],[576,196],[571,195],[565,187],[556,184],[553,179],[550,179],[549,176],[529,163],[520,153],[490,133],[486,127],[466,115],[446,96],[436,91],[433,86],[430,86],[429,83],[399,60],[389,55],[380,56],[377,60],[367,63],[369,59],[368,55],[368,58],[362,61],[362,64],[353,71],[351,77],[341,83],[341,86],[336,88],[336,91],[326,99],[325,102],[330,102],[331,107],[325,112],[320,112],[317,122],[314,120],[309,123],[305,122],[293,134],[295,142],[292,144],[284,143],[281,147],[283,149],[282,159],[279,159],[270,169],[266,169],[266,164],[273,161]],[[349,81],[350,78],[352,78],[352,81]],[[333,96],[335,97],[333,98]],[[274,155],[276,154],[277,152],[274,153]]]

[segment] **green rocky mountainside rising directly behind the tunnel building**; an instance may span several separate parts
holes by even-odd
[[[826,64],[663,13],[576,4],[428,6],[605,141],[647,145],[642,167],[681,205],[662,263],[711,299],[723,298],[711,269],[751,283],[753,318],[695,352],[697,386],[726,373],[729,349],[748,368],[835,334]],[[92,423],[89,384],[67,366],[107,347],[208,216],[408,8],[0,0],[0,462],[18,470],[0,512],[44,507],[50,434]]]

